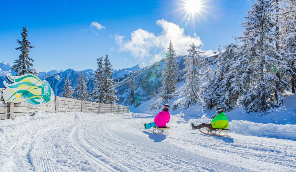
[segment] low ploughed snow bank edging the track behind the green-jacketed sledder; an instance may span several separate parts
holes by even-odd
[[[210,121],[208,118],[189,120],[194,125]],[[296,125],[277,125],[277,124],[261,124],[250,121],[232,120],[229,122],[230,132],[241,134],[244,136],[259,136],[259,137],[272,137],[296,140]]]

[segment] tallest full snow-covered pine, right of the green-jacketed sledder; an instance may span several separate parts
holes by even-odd
[[[245,17],[244,36],[238,38],[244,43],[240,48],[240,63],[243,70],[241,76],[246,79],[245,75],[248,75],[247,80],[250,81],[244,86],[246,92],[242,100],[246,112],[265,112],[282,102],[281,97],[278,100],[274,98],[278,78],[274,73],[268,73],[272,65],[281,63],[270,39],[273,26],[268,15],[269,8],[270,3],[256,0]]]

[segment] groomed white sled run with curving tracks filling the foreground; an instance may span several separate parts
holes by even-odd
[[[170,133],[156,135],[143,125],[153,117],[39,112],[1,120],[0,171],[295,171],[295,125],[266,125],[268,135],[283,130],[288,139],[236,130],[221,138],[190,130],[173,115]]]

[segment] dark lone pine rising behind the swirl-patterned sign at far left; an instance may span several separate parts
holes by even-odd
[[[30,41],[27,40],[28,31],[26,27],[22,28],[22,41],[17,39],[17,43],[20,44],[20,47],[17,47],[15,50],[20,50],[21,54],[17,60],[15,60],[15,64],[12,66],[12,69],[17,72],[19,69],[30,69],[33,67],[33,60],[29,57],[30,49],[34,48],[31,46]],[[30,71],[21,71],[20,74],[26,74]]]

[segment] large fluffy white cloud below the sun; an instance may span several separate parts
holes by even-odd
[[[131,40],[125,40],[124,36],[115,35],[115,42],[119,45],[119,51],[128,51],[136,60],[142,63],[153,63],[165,57],[170,40],[177,54],[187,54],[189,45],[194,42],[197,46],[202,44],[200,37],[194,33],[186,35],[177,24],[166,20],[157,20],[157,26],[163,31],[155,36],[154,33],[143,29],[131,32]],[[207,50],[210,53],[211,50]]]

